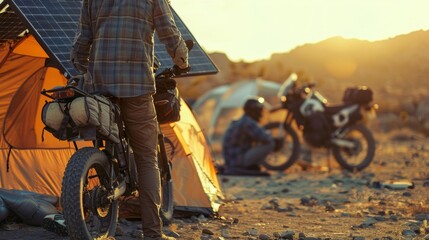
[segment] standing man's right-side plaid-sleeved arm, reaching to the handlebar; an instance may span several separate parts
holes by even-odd
[[[154,25],[159,40],[165,45],[174,63],[182,69],[188,67],[188,48],[174,22],[173,14],[166,0],[155,0]]]

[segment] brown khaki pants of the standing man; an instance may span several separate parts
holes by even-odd
[[[144,236],[160,237],[161,184],[157,160],[158,122],[152,95],[119,100],[125,130],[130,138],[139,178]]]

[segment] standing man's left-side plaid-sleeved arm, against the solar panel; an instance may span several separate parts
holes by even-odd
[[[92,44],[91,20],[88,14],[88,0],[82,2],[79,26],[73,41],[70,60],[81,73],[88,70],[89,50]]]

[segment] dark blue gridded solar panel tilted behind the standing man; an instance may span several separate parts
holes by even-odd
[[[66,76],[78,74],[70,63],[70,48],[78,26],[81,0],[5,0],[21,17],[31,34],[38,40],[56,67]],[[192,33],[173,10],[174,20],[184,39],[192,39],[195,44],[189,53],[191,71],[184,76],[214,74],[216,65],[204,52]],[[162,70],[173,62],[164,45],[155,36],[155,54],[161,62]]]

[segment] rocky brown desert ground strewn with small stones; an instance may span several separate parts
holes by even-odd
[[[218,216],[174,218],[164,230],[178,239],[429,239],[429,138],[408,129],[375,138],[373,163],[357,173],[314,150],[306,168],[219,176],[225,201]],[[139,225],[121,219],[115,238],[138,239]],[[67,237],[8,222],[0,239]]]

